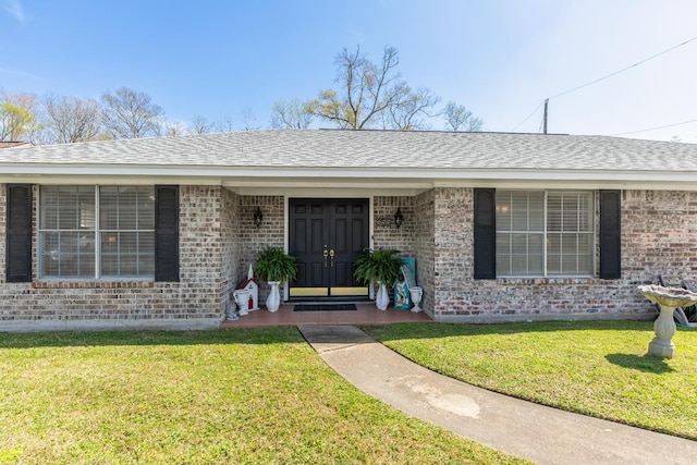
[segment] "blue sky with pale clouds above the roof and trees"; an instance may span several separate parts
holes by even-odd
[[[335,86],[343,48],[393,46],[485,131],[541,132],[549,98],[549,133],[697,143],[695,19],[694,0],[0,0],[0,90],[125,86],[172,121],[270,127],[274,101]]]

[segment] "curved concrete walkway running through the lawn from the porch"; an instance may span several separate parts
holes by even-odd
[[[697,464],[697,442],[534,404],[427,370],[353,326],[301,326],[362,391],[465,438],[540,464]]]

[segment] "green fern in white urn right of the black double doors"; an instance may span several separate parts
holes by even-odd
[[[402,259],[396,256],[400,250],[393,248],[366,248],[356,259],[354,277],[365,284],[378,284],[375,305],[380,310],[388,308],[390,296],[388,285],[392,285],[400,276]]]

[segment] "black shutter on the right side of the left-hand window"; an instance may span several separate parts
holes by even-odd
[[[155,186],[155,281],[179,281],[179,186]]]

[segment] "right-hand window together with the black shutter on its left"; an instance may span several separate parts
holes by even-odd
[[[588,277],[595,264],[591,191],[474,191],[475,279]]]

